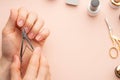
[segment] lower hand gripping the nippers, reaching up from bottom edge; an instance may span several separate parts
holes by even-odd
[[[50,80],[49,65],[39,47],[33,51],[23,78],[21,77],[20,60],[17,55],[14,56],[11,64],[10,74],[11,80]]]

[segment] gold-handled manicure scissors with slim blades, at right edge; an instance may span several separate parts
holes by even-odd
[[[109,55],[111,58],[116,59],[118,57],[118,53],[120,51],[120,38],[113,35],[112,28],[111,28],[110,24],[108,23],[107,18],[105,19],[105,22],[106,22],[106,25],[108,27],[109,35],[110,35],[110,38],[111,38],[112,43],[113,43],[113,47],[111,47],[109,49]],[[112,53],[113,51],[115,51],[114,54]]]

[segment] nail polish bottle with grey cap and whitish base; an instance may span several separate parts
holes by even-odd
[[[88,5],[88,14],[90,16],[96,16],[100,11],[100,1],[99,0],[91,0]]]

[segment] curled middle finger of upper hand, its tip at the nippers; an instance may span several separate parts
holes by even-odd
[[[34,23],[36,22],[36,20],[37,20],[37,14],[30,12],[28,14],[27,20],[24,25],[24,29],[25,29],[26,33],[28,33],[31,30],[31,28],[34,25]]]

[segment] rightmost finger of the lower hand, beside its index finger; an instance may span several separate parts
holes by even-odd
[[[49,72],[49,65],[47,59],[43,55],[41,55],[40,68],[37,75],[37,80],[45,80],[48,72]]]

